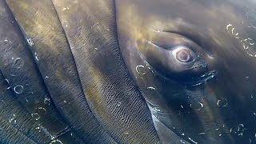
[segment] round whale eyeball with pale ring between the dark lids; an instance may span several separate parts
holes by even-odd
[[[178,62],[193,62],[194,61],[194,52],[185,47],[178,47],[177,49],[172,51],[174,58],[178,60]]]

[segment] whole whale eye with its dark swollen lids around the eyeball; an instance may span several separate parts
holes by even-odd
[[[180,34],[154,33],[150,40],[138,41],[137,46],[158,78],[194,85],[215,74],[208,70],[204,49]]]

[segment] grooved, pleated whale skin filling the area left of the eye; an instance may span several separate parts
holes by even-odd
[[[112,29],[103,34],[97,27],[91,28],[96,23],[94,15],[88,14],[90,19],[72,16],[74,21],[70,22],[85,21],[85,25],[77,22],[72,24],[78,27],[70,27],[80,38],[64,31],[58,15],[64,9],[61,4],[65,2],[1,1],[2,97],[10,93],[16,102],[6,102],[11,107],[2,109],[2,121],[14,123],[2,123],[8,127],[2,130],[1,142],[158,143],[150,111],[122,62],[111,28],[115,26],[114,2],[73,3],[82,6],[81,14],[87,14],[89,8],[102,10],[106,22],[101,25]],[[74,46],[86,51],[77,53]],[[96,46],[102,50],[97,51]],[[81,74],[81,69],[88,71]],[[8,109],[22,113],[4,113]]]

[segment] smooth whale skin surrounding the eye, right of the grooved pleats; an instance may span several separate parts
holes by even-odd
[[[162,142],[173,141],[169,130],[191,143],[255,141],[254,8],[253,1],[116,1],[122,55]],[[217,73],[196,86],[184,84],[186,78],[168,66],[178,62],[166,48],[188,41],[186,47],[198,45],[194,52],[207,64],[203,73]]]

